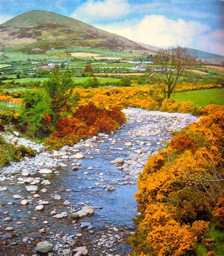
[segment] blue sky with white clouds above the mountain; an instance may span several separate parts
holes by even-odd
[[[0,24],[49,10],[152,46],[224,55],[224,0],[0,0]]]

